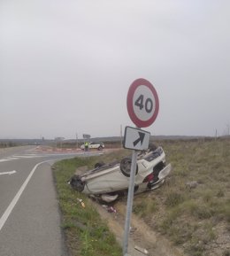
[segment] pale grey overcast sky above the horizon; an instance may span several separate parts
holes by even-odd
[[[119,136],[130,84],[151,135],[226,135],[229,0],[0,0],[0,138]]]

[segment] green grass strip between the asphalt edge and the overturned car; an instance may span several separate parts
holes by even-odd
[[[54,166],[66,245],[73,256],[120,256],[121,248],[91,201],[67,183],[77,167],[93,167],[96,158],[67,159]],[[81,198],[85,207],[80,205]]]

